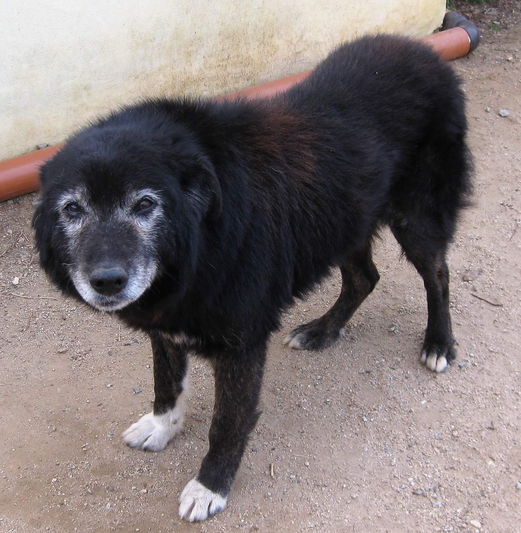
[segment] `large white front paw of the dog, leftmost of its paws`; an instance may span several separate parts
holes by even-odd
[[[171,409],[163,415],[148,413],[125,430],[121,436],[131,448],[159,451],[183,429],[184,415]]]

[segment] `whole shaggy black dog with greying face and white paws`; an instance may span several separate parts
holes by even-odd
[[[286,339],[335,342],[379,279],[371,241],[382,224],[425,282],[421,361],[442,372],[454,359],[445,254],[470,192],[459,85],[427,46],[363,37],[271,99],[127,107],[43,166],[43,268],[152,341],[153,412],[127,444],[164,448],[183,423],[187,354],[213,362],[209,451],[181,494],[183,518],[226,503],[281,312],[338,266],[338,301]]]

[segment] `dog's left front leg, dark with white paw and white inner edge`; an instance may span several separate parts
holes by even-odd
[[[152,334],[154,361],[154,406],[124,433],[132,448],[158,451],[183,429],[188,394],[188,360],[182,345],[161,334]]]

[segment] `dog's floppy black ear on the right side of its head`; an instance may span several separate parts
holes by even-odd
[[[221,184],[217,178],[214,165],[202,155],[190,161],[189,170],[182,181],[183,189],[194,196],[201,193],[208,198],[208,210],[206,216],[209,219],[218,219],[221,215],[223,200]]]

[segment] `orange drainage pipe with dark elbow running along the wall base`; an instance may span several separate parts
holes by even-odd
[[[446,13],[442,29],[443,31],[428,35],[422,38],[421,41],[430,44],[434,51],[445,61],[467,55],[471,50],[474,50],[479,42],[477,28],[465,17],[454,11]],[[310,72],[311,70],[307,70],[273,82],[225,94],[219,98],[231,99],[239,95],[247,98],[265,98],[275,93],[286,91],[291,85],[304,79]],[[63,143],[56,144],[43,150],[0,161],[0,201],[9,200],[15,196],[37,190],[39,188],[38,173],[40,166],[60,150],[62,146]]]

